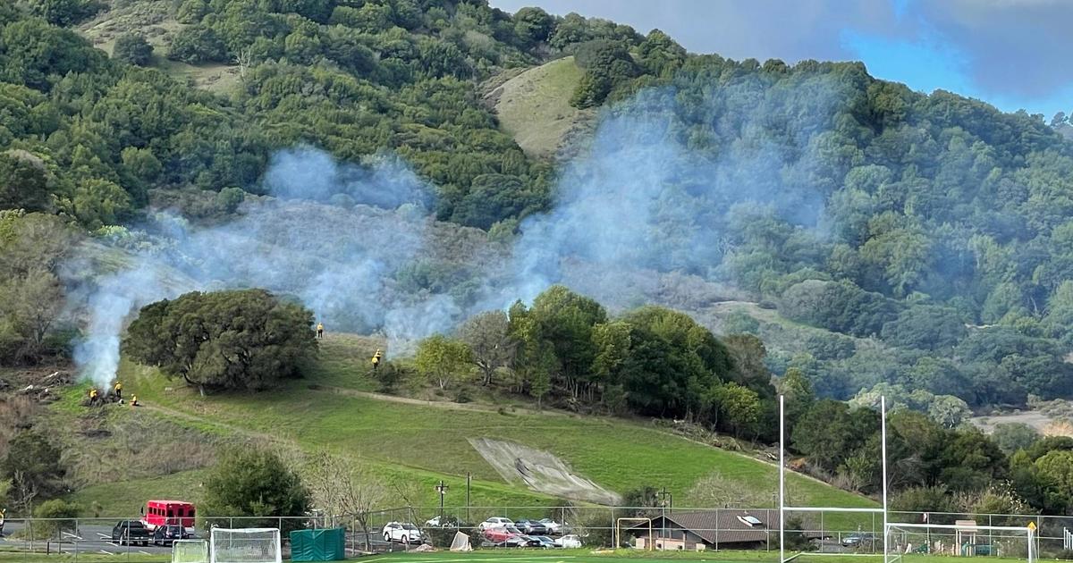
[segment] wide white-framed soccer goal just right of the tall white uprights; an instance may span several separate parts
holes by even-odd
[[[905,555],[994,555],[1025,559],[1035,563],[1037,535],[1033,527],[981,525],[972,520],[953,524],[886,524],[884,560],[901,561]]]

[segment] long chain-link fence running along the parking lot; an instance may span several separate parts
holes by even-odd
[[[636,545],[636,538],[652,542],[663,549],[779,549],[779,510],[777,508],[689,508],[689,507],[605,507],[605,506],[401,506],[372,510],[363,515],[296,517],[199,517],[187,529],[191,537],[207,538],[212,525],[223,528],[279,528],[284,553],[289,552],[291,530],[343,528],[347,551],[355,555],[413,549],[420,544],[438,548],[450,546],[456,532],[470,536],[474,547],[502,545],[500,537],[486,534],[481,523],[489,518],[508,518],[521,533],[549,536],[573,546],[587,548]],[[1039,515],[953,514],[891,512],[891,522],[950,524],[973,520],[979,525],[1027,527],[1038,529],[1038,553],[1055,558],[1071,547],[1073,517]],[[640,520],[638,520],[640,518]],[[139,517],[8,519],[2,529],[0,550],[25,550],[39,553],[127,554],[129,557],[171,552],[168,543],[155,544],[150,534],[132,536],[126,542],[116,525]],[[630,519],[630,520],[623,520]],[[646,520],[647,519],[647,520]],[[545,520],[545,522],[540,522]],[[526,522],[521,522],[526,521]],[[531,521],[531,522],[530,522]],[[418,534],[400,537],[385,534],[389,523],[413,524]],[[550,528],[548,523],[550,522]],[[649,531],[649,525],[651,531]],[[947,532],[937,531],[929,540],[941,539]],[[411,532],[412,534],[412,532]],[[837,509],[787,514],[788,550],[812,550],[827,553],[883,552],[883,515],[844,513]],[[998,546],[978,555],[1024,557],[1020,546],[987,530],[980,532],[979,544]],[[1001,549],[1002,552],[998,550]]]

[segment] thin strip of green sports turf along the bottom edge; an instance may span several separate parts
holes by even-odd
[[[787,553],[790,555],[790,553]],[[936,563],[936,560],[947,559],[947,555],[906,555],[899,563]],[[952,558],[950,558],[952,559]],[[452,553],[450,551],[437,552],[409,552],[392,553],[384,555],[367,555],[363,558],[352,558],[348,561],[362,561],[364,563],[611,563],[614,560],[627,560],[628,563],[667,563],[668,561],[685,562],[712,562],[712,563],[776,563],[779,560],[778,551],[706,551],[706,552],[682,552],[682,551],[592,551],[588,549],[570,549],[559,551],[531,551],[531,550],[487,550],[471,551],[469,553]],[[979,563],[1017,563],[1024,562],[1020,559],[976,557]],[[87,563],[162,563],[171,561],[167,555],[94,555],[82,553],[77,560],[72,554],[43,553],[12,553],[0,551],[0,562],[2,563],[57,563],[57,562],[87,562]],[[807,553],[794,559],[795,563],[882,563],[882,555],[824,555],[820,553]]]

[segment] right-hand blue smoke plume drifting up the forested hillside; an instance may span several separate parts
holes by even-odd
[[[504,296],[528,301],[567,282],[621,305],[617,284],[638,269],[718,278],[737,223],[820,226],[823,194],[800,188],[823,160],[811,140],[840,97],[827,80],[812,88],[813,110],[794,114],[784,102],[797,92],[727,85],[708,101],[722,110],[702,131],[681,130],[672,89],[643,91],[605,115],[586,155],[567,166],[554,210],[521,224]],[[571,262],[587,267],[577,275]]]

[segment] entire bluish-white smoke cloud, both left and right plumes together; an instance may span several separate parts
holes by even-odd
[[[359,166],[306,147],[281,151],[264,178],[270,196],[249,197],[226,224],[158,213],[113,240],[136,249],[120,267],[72,264],[69,286],[88,317],[75,358],[107,386],[137,309],[195,290],[294,295],[329,331],[381,332],[397,354],[554,283],[621,308],[658,300],[652,280],[662,273],[718,279],[735,228],[821,222],[823,194],[799,188],[817,176],[814,139],[840,97],[825,80],[808,86],[802,108],[785,104],[797,92],[722,85],[700,102],[710,121],[692,130],[676,117],[675,91],[641,92],[602,117],[565,165],[553,210],[527,218],[512,249],[435,222],[431,190],[397,159]]]

